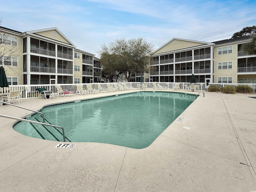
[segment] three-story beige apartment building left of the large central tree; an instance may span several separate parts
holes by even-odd
[[[76,49],[57,28],[18,32],[0,26],[0,34],[5,39],[0,54],[6,54],[1,55],[0,65],[11,85],[91,83],[94,70],[101,74],[99,59]],[[10,57],[1,51],[10,48],[14,53]]]

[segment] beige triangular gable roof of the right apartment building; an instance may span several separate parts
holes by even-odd
[[[162,45],[160,48],[155,50],[153,54],[172,52],[172,51],[177,51],[182,49],[189,49],[191,47],[196,47],[196,46],[214,46],[214,43],[187,40],[187,39],[181,39],[181,38],[172,38],[166,44]]]

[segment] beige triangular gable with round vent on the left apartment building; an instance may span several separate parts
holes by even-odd
[[[32,36],[38,36],[38,37],[44,37],[48,38],[53,41],[62,42],[64,44],[68,44],[72,47],[76,47],[58,28],[46,28],[46,29],[39,29],[39,30],[32,30],[32,31],[26,31],[22,33],[22,35],[32,35]],[[60,35],[60,36],[58,36]]]

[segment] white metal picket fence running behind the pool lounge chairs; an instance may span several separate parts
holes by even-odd
[[[98,84],[101,85],[103,89],[107,89],[108,86],[107,84],[110,84],[111,87],[114,88],[114,84],[120,84],[123,86],[123,84],[126,84],[127,87],[132,87],[134,90],[138,88],[142,88],[141,85],[142,83],[140,82],[118,82],[118,83],[92,83],[90,84],[93,89],[99,90]],[[143,84],[147,84],[146,89],[162,89],[166,88],[169,90],[190,90],[190,83],[171,83],[171,82],[144,82]],[[157,87],[157,84],[160,84],[162,88]],[[36,98],[39,96],[39,92],[37,91],[37,88],[44,87],[47,90],[50,90],[52,92],[57,92],[56,85],[61,86],[62,90],[78,93],[76,90],[76,85],[78,84],[43,84],[43,85],[10,85],[9,87],[6,88],[0,88],[0,92],[9,92],[9,91],[14,91],[14,90],[22,90],[22,99],[24,98]],[[86,89],[87,84],[82,84],[83,88]],[[176,86],[175,86],[176,85]],[[209,83],[208,86],[206,83],[196,83],[194,84],[196,87],[197,91],[207,91],[208,87],[210,85],[215,85],[218,88],[224,87],[224,86],[233,86],[236,88],[238,85],[247,85],[252,87],[252,93],[256,93],[256,84],[242,84],[242,83]],[[157,88],[156,88],[156,87]]]

